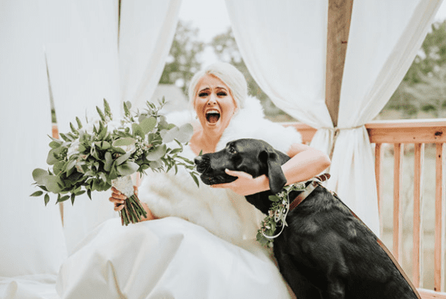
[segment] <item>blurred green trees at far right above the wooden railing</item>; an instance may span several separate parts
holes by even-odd
[[[446,20],[432,24],[400,86],[385,109],[402,110],[406,118],[418,111],[433,117],[446,112]]]

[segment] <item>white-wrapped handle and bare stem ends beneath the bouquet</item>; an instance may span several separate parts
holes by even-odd
[[[147,217],[147,213],[139,202],[139,198],[134,193],[132,176],[122,176],[112,180],[112,186],[119,192],[127,196],[124,202],[124,208],[119,211],[122,225],[137,223],[142,218]]]

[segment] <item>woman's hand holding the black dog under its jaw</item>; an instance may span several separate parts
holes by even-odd
[[[248,196],[269,190],[267,176],[252,178],[249,173],[243,171],[230,171],[229,169],[225,169],[225,172],[229,174],[229,176],[237,176],[237,180],[231,183],[212,185],[212,188],[229,188],[241,196]]]

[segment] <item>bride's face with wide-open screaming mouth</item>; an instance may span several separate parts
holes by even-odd
[[[194,108],[204,131],[221,136],[237,105],[225,83],[215,76],[206,75],[198,81]]]

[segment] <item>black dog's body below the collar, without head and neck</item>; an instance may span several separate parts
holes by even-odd
[[[289,213],[287,224],[274,255],[293,290],[302,289],[303,275],[322,298],[419,298],[377,236],[322,186]]]

